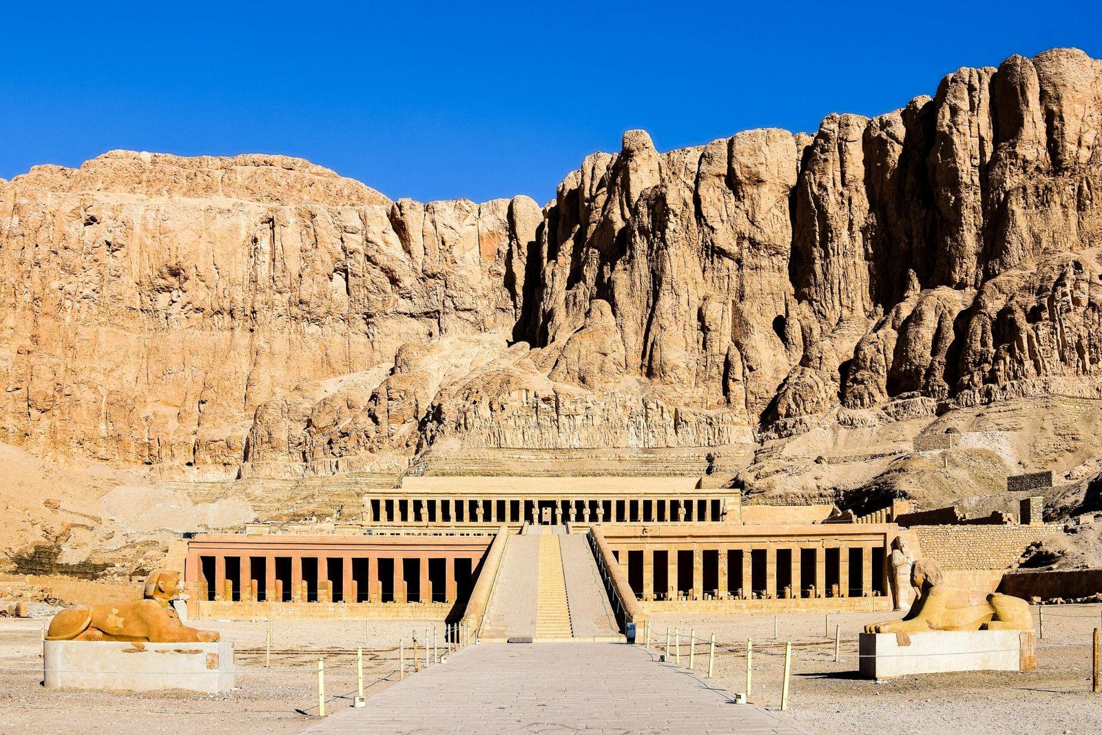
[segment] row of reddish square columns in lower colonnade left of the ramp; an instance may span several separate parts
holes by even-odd
[[[236,554],[235,554],[236,555]],[[233,580],[229,580],[226,575],[226,559],[233,558],[235,555],[228,554],[217,554],[214,555],[214,590],[213,595],[201,597],[202,599],[209,599],[214,597],[215,599],[233,601]],[[190,564],[195,564],[195,569],[198,570],[198,580],[201,584],[209,585],[212,580],[205,579],[202,571],[202,558],[209,555],[193,554],[188,558]],[[306,602],[307,599],[307,584],[303,579],[302,573],[302,560],[303,559],[316,559],[317,560],[317,602],[356,602],[359,599],[359,590],[357,580],[353,574],[353,560],[361,559],[365,560],[367,564],[367,599],[369,602],[381,602],[382,601],[382,580],[379,576],[379,559],[392,559],[393,560],[393,579],[391,581],[393,590],[393,602],[408,602],[408,594],[406,590],[404,582],[404,562],[408,560],[417,560],[419,568],[419,599],[417,602],[431,602],[432,601],[432,583],[429,577],[429,560],[432,559],[443,559],[444,561],[444,599],[445,602],[454,602],[457,594],[457,581],[455,576],[455,556],[390,556],[388,554],[376,554],[376,555],[356,555],[356,554],[345,554],[342,556],[313,556],[313,555],[292,555],[285,556],[280,554],[268,554],[263,556],[258,556],[256,554],[247,556],[237,556],[240,560],[240,575],[238,580],[239,598],[244,602],[257,602],[258,590],[260,588],[260,580],[252,576],[252,565],[253,559],[263,559],[263,597],[267,602],[282,602],[288,595],[287,591],[283,590],[283,580],[277,577],[276,560],[277,559],[290,559],[291,575],[290,575],[290,597],[291,602]],[[333,590],[335,587],[335,579],[329,577],[328,573],[328,561],[331,559],[341,559],[342,574],[341,574],[341,599],[333,599]],[[474,566],[476,560],[472,560],[471,564]],[[258,575],[259,576],[259,575]]]

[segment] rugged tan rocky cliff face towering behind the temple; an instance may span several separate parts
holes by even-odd
[[[1102,397],[1102,62],[392,203],[274,156],[0,182],[7,442],[201,472],[719,446]]]

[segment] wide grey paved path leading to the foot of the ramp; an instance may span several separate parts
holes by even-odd
[[[480,644],[336,712],[311,735],[802,731],[624,644]]]

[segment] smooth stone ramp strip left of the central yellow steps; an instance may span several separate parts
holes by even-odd
[[[540,536],[510,536],[490,592],[482,639],[504,641],[536,636]]]

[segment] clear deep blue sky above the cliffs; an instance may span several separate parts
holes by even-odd
[[[392,198],[543,203],[630,128],[659,150],[810,132],[961,66],[1102,56],[1100,2],[963,4],[11,3],[0,177],[120,148],[267,152]]]

